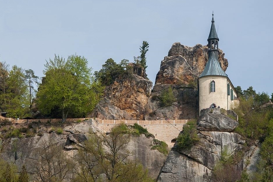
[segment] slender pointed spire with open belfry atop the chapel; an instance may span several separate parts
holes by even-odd
[[[209,37],[208,37],[208,48],[209,48],[208,54],[209,54],[209,57],[210,57],[211,52],[213,51],[215,53],[215,57],[218,60],[218,52],[219,52],[218,41],[219,41],[219,38],[218,38],[216,29],[215,29],[213,15],[214,14],[213,14],[213,11],[212,11],[212,20],[211,20],[210,34],[209,34]]]

